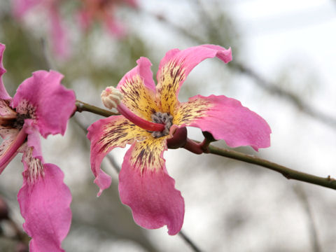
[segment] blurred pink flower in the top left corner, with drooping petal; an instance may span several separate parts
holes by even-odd
[[[54,54],[65,59],[69,56],[68,37],[59,16],[59,2],[62,0],[13,0],[14,15],[19,20],[32,9],[41,8],[50,20],[50,36]]]

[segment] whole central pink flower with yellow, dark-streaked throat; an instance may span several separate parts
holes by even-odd
[[[181,230],[184,202],[175,181],[166,170],[164,151],[176,128],[199,127],[230,147],[269,146],[269,126],[260,116],[235,99],[210,95],[179,102],[181,85],[188,73],[204,59],[232,60],[231,50],[218,45],[200,45],[186,50],[170,50],[161,60],[155,86],[151,62],[146,57],[120,80],[117,89],[123,99],[117,109],[121,116],[98,120],[88,128],[91,141],[91,167],[100,190],[111,178],[100,165],[113,148],[131,144],[119,174],[120,198],[132,209],[134,221],[144,228],[167,225],[169,235]],[[109,97],[111,94],[111,97]],[[104,104],[118,104],[111,87],[102,94]]]

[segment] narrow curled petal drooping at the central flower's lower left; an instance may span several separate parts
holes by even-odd
[[[99,196],[111,185],[111,177],[100,169],[103,158],[113,148],[124,148],[126,144],[144,139],[150,133],[130,123],[124,116],[111,116],[98,120],[87,128],[87,132],[87,138],[91,141],[91,169],[96,177],[94,183],[99,186]]]

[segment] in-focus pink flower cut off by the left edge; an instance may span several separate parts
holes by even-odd
[[[45,163],[40,134],[64,134],[75,106],[75,94],[60,82],[56,71],[36,71],[18,87],[13,99],[3,86],[5,72],[0,43],[0,173],[16,154],[23,153],[23,185],[18,193],[23,228],[32,238],[31,251],[63,251],[61,242],[71,223],[71,193],[56,165]]]

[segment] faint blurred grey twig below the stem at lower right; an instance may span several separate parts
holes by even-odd
[[[321,252],[321,246],[318,241],[318,235],[317,235],[317,229],[314,222],[313,214],[311,213],[311,207],[309,206],[309,201],[307,194],[304,192],[304,189],[300,185],[295,185],[293,187],[294,192],[296,193],[297,197],[301,200],[302,205],[304,207],[304,210],[307,213],[307,218],[309,221],[309,231],[310,231],[310,237],[311,237],[311,243],[313,246],[314,252]]]

